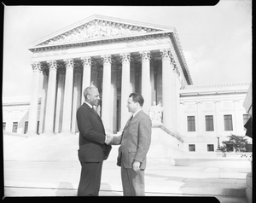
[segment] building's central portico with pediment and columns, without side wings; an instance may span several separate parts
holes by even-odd
[[[44,75],[40,133],[74,133],[83,90],[99,89],[98,112],[106,131],[122,129],[130,117],[131,92],[165,110],[163,123],[177,131],[178,90],[192,84],[175,28],[93,15],[30,44],[33,80],[28,133],[37,132],[38,85]]]

